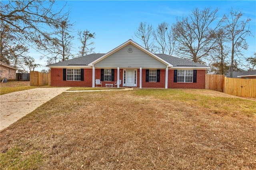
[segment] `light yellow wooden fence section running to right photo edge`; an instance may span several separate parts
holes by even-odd
[[[242,97],[256,97],[256,79],[224,78],[224,93]]]

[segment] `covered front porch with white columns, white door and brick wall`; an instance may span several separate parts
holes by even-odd
[[[153,72],[150,75],[151,71]],[[108,74],[108,72],[110,72]],[[155,73],[154,73],[155,72]],[[157,73],[157,74],[156,74]],[[161,73],[161,76],[160,76]],[[154,79],[155,76],[155,79]],[[96,87],[95,80],[100,79],[102,85],[114,83],[121,80],[120,87],[162,87],[168,88],[168,67],[165,69],[148,69],[148,68],[132,68],[132,67],[116,67],[116,68],[95,68],[92,67],[92,87]],[[156,81],[157,80],[157,81]]]

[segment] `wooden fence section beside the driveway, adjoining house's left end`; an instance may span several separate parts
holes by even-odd
[[[51,72],[30,71],[30,86],[51,85]]]

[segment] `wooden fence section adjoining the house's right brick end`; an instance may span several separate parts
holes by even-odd
[[[205,89],[223,92],[224,75],[205,75]]]

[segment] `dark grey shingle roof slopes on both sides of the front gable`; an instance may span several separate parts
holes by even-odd
[[[50,64],[47,66],[72,66],[72,65],[81,65],[81,66],[87,66],[89,63],[91,63],[92,61],[100,58],[102,55],[104,55],[104,53],[95,53],[95,54],[89,54],[89,55],[85,55],[82,57],[78,57],[78,58],[74,58],[74,59],[69,59],[66,61],[61,61],[58,63],[54,63],[54,64]],[[177,57],[173,57],[170,55],[166,55],[166,54],[156,54],[158,57],[164,59],[165,61],[167,61],[168,63],[171,63],[173,65],[173,67],[207,67],[206,65],[202,65],[199,63],[194,63],[192,61],[188,61],[185,59],[180,59]]]

